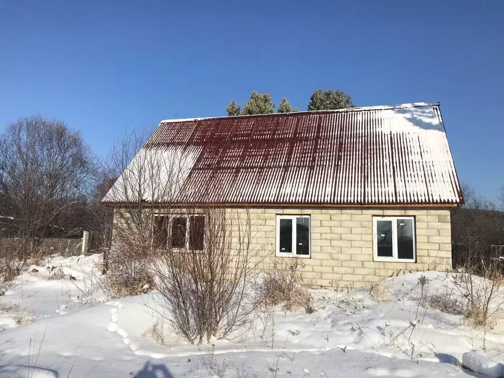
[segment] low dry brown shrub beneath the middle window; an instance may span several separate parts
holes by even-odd
[[[261,302],[267,307],[282,304],[285,311],[314,311],[311,293],[303,286],[298,258],[275,258],[265,272],[260,293]]]

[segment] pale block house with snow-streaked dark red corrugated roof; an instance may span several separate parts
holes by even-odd
[[[163,120],[131,164],[154,151],[186,156],[170,201],[247,210],[264,253],[302,258],[311,286],[452,268],[450,210],[463,198],[439,103]],[[104,202],[128,206],[111,192]],[[203,219],[172,222],[175,244],[204,248],[186,237]]]

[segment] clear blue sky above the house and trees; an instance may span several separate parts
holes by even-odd
[[[40,113],[107,154],[124,128],[225,115],[253,90],[306,109],[439,101],[459,177],[504,182],[504,2],[4,1],[0,127]]]

